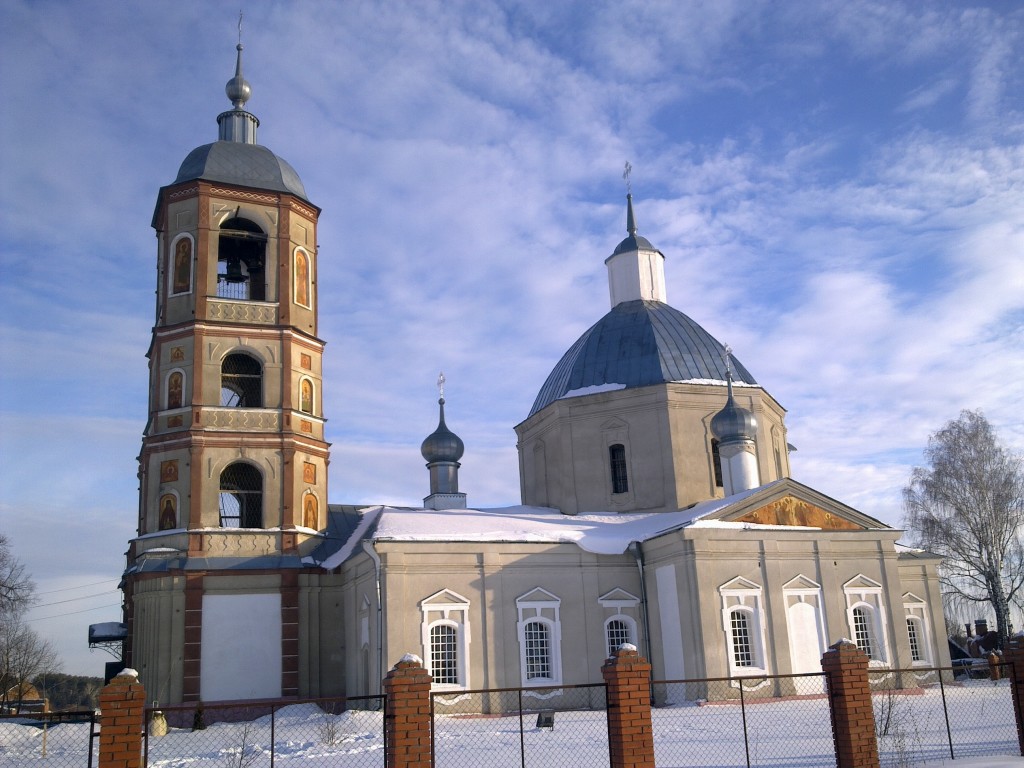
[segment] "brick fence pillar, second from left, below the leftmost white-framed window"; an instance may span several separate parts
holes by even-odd
[[[384,678],[387,768],[430,768],[430,674],[407,653]]]

